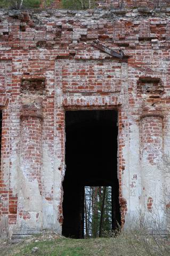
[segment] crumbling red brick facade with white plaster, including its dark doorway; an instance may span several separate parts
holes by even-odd
[[[114,187],[124,228],[169,228],[169,11],[0,11],[1,236],[80,234],[89,184]]]

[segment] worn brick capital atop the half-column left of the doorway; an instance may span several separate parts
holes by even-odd
[[[43,120],[42,103],[27,103],[21,106],[21,121],[23,118],[36,117]]]

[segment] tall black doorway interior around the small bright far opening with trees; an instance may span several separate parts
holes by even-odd
[[[117,111],[66,111],[62,235],[84,238],[84,187],[112,188],[112,230],[120,224]]]

